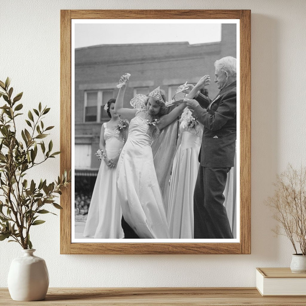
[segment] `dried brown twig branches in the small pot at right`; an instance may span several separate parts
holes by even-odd
[[[299,250],[301,255],[306,255],[306,168],[301,167],[298,171],[289,165],[277,175],[274,186],[274,196],[268,198],[267,204],[280,226],[273,232],[287,236],[296,255]]]

